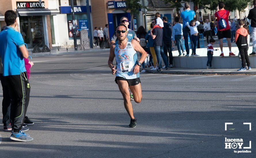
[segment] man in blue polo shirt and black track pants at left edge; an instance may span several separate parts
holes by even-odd
[[[24,123],[24,107],[26,88],[29,88],[24,59],[28,58],[28,50],[22,34],[15,30],[17,16],[13,10],[5,12],[5,29],[0,33],[0,55],[5,78],[11,98],[10,120],[12,134],[10,139],[22,142],[32,141],[28,134],[22,131]]]

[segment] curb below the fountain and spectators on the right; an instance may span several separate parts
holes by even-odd
[[[153,74],[187,74],[187,75],[256,75],[256,72],[236,72],[236,71],[230,71],[230,72],[209,72],[209,71],[179,71],[179,70],[164,70],[162,72],[158,72],[156,70],[148,70],[145,69],[146,72],[153,73]]]

